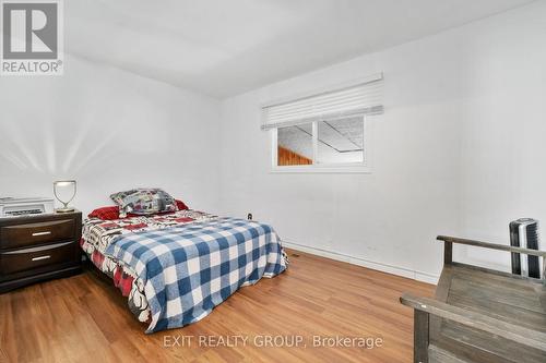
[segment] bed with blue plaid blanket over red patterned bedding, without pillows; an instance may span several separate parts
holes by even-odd
[[[198,322],[240,287],[288,265],[270,226],[186,209],[83,222],[81,246],[146,332]]]

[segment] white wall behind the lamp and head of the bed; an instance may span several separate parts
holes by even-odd
[[[0,77],[0,105],[1,196],[73,178],[85,213],[133,186],[217,209],[217,100],[67,57],[63,76]]]

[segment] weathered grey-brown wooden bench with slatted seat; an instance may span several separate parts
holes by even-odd
[[[546,252],[439,235],[444,265],[435,299],[414,308],[414,362],[545,363]],[[452,261],[453,243],[542,257],[543,279]]]

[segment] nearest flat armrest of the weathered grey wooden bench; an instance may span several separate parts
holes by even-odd
[[[501,336],[520,344],[546,352],[546,334],[542,331],[506,323],[490,316],[446,304],[438,300],[417,298],[408,293],[404,293],[400,298],[400,302],[416,311],[432,314],[471,328]]]

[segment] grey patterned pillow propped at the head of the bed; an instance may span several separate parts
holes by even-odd
[[[119,207],[119,218],[128,214],[153,215],[163,211],[177,211],[175,198],[161,189],[133,189],[110,195]]]

